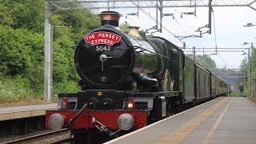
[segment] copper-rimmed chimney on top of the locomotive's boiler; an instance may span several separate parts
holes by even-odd
[[[98,17],[101,18],[102,26],[119,26],[119,18],[122,17],[122,14],[116,11],[102,11],[101,14],[98,14]]]

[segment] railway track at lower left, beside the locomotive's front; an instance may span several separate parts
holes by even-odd
[[[14,141],[5,142],[3,144],[9,143],[64,143],[69,142],[70,140],[70,130],[62,129],[62,130],[54,130],[51,132],[47,132],[44,134],[38,134],[34,136],[30,136],[27,138],[20,138]]]

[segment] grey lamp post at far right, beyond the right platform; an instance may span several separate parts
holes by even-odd
[[[254,92],[253,92],[254,90],[254,42],[244,42],[243,45],[251,45],[251,48],[248,48],[248,96],[250,96],[250,89],[251,89],[251,96],[254,97]],[[251,58],[250,58],[250,49],[251,49]],[[251,69],[251,72],[250,72],[250,69]],[[251,81],[251,86],[250,86],[250,81]]]

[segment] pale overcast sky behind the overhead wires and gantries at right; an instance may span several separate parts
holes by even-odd
[[[150,15],[155,17],[154,9],[143,9]],[[119,13],[123,14],[121,18],[121,23],[128,22],[131,26],[140,26],[140,30],[146,30],[155,25],[155,22],[151,20],[142,11],[139,12],[139,18],[136,16],[128,16],[126,18],[126,13],[137,12],[137,10],[117,10]],[[165,26],[171,33],[177,36],[186,36],[190,34],[196,34],[194,32],[198,27],[206,26],[208,24],[208,8],[197,8],[196,17],[194,15],[182,15],[182,12],[193,12],[194,8],[166,8],[163,13],[174,14],[174,19],[172,17],[164,17],[162,19],[163,26]],[[212,17],[212,34],[203,34],[203,38],[186,38],[182,42],[186,42],[186,47],[191,48],[196,47],[207,47],[214,48],[247,48],[250,45],[242,45],[244,42],[254,42],[256,37],[256,26],[244,27],[246,23],[256,24],[256,11],[250,9],[249,7],[214,7],[214,17]],[[216,30],[216,42],[214,35],[214,23]],[[207,29],[202,29],[206,31]],[[166,30],[161,33],[155,33],[154,35],[162,36],[170,42],[173,42],[177,46],[182,46],[177,38]],[[247,53],[247,50],[246,50]],[[197,53],[201,54],[202,53]],[[210,54],[210,53],[205,53]],[[223,53],[218,52],[217,55],[210,55],[217,64],[218,68],[233,69],[239,68],[240,63],[243,58],[247,58],[247,55],[242,55],[242,53]]]

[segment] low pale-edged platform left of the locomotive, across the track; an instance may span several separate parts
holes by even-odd
[[[57,103],[0,107],[0,121],[42,116],[46,114],[46,110],[54,110],[56,107]]]

